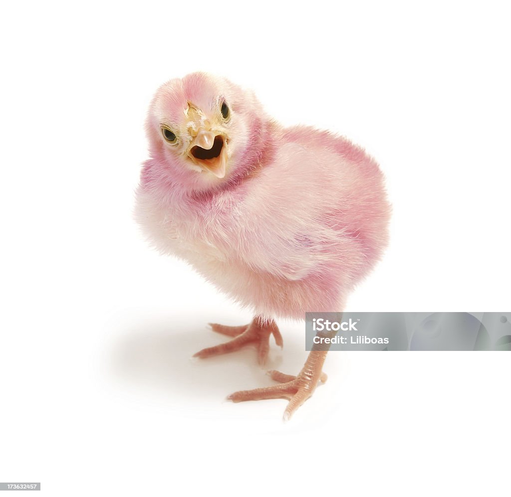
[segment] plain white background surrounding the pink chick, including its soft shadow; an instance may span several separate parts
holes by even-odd
[[[348,310],[509,310],[504,6],[4,6],[0,481],[51,496],[506,494],[509,354],[331,353],[328,383],[284,424],[283,400],[224,400],[271,384],[253,350],[190,360],[223,340],[206,322],[251,316],[151,252],[131,218],[153,92],[223,74],[285,125],[380,162],[391,245]],[[304,325],[281,330],[268,366],[296,373]]]

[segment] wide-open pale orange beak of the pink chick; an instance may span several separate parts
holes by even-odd
[[[227,143],[223,135],[200,129],[188,149],[188,157],[217,178],[225,177]]]

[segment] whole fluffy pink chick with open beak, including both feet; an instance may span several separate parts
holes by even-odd
[[[349,140],[311,127],[284,128],[251,91],[197,72],[156,92],[146,131],[150,159],[136,219],[162,253],[188,261],[250,308],[249,325],[212,324],[230,341],[206,358],[255,344],[264,364],[276,318],[341,312],[387,245],[390,206],[378,164]],[[327,351],[296,376],[238,391],[234,402],[284,398],[284,418],[326,381]]]

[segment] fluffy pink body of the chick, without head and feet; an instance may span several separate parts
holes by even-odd
[[[228,85],[233,101],[243,102],[243,90]],[[200,92],[201,84],[192,87]],[[193,95],[185,96],[183,85],[180,91],[184,108]],[[233,114],[243,109],[248,122],[227,177],[186,182],[153,146],[137,191],[137,219],[161,252],[189,262],[254,314],[303,319],[306,311],[343,310],[387,245],[382,173],[349,140],[310,127],[283,128],[253,95],[246,100],[258,119],[233,105]],[[164,104],[156,97],[157,106]],[[154,140],[151,114],[148,130]]]

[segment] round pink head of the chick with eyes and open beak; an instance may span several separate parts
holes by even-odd
[[[205,190],[257,160],[266,120],[253,93],[195,72],[157,90],[146,130],[160,172],[186,188]]]

